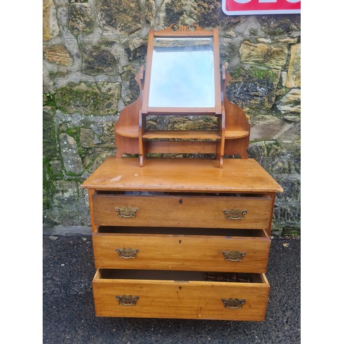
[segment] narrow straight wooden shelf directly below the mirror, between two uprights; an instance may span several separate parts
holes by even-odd
[[[200,140],[219,140],[221,135],[218,131],[189,131],[189,130],[147,130],[144,131],[142,138],[177,138],[177,139],[200,139]]]

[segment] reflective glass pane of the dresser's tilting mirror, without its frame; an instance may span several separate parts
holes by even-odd
[[[213,37],[155,37],[149,107],[215,107]]]

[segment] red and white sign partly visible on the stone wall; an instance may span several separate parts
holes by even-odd
[[[222,10],[228,16],[300,13],[301,0],[222,0]]]

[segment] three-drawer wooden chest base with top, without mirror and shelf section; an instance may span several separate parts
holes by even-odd
[[[102,269],[92,283],[97,316],[264,321],[270,286],[260,272],[268,264],[275,193],[283,189],[255,160],[215,164],[148,159],[142,169],[136,159],[108,158],[83,183]],[[129,207],[134,211],[116,211]],[[241,215],[231,216],[241,219],[226,219],[224,209],[238,208]],[[123,248],[136,250],[135,258],[120,258],[116,249]],[[246,253],[226,261],[223,251]],[[254,273],[250,283],[204,280],[212,271]],[[122,295],[139,298],[120,305]],[[230,309],[222,301],[228,298],[246,301]]]

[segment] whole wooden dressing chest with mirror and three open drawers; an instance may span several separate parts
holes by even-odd
[[[272,213],[283,189],[247,157],[250,125],[226,97],[217,29],[151,30],[136,80],[140,96],[115,125],[116,157],[81,186],[96,315],[264,321]],[[217,128],[152,130],[149,116],[214,116]]]

